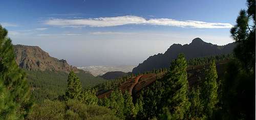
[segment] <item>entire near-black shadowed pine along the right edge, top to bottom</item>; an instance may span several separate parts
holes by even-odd
[[[238,43],[234,49],[237,60],[229,63],[222,80],[221,103],[223,119],[255,119],[255,6],[247,1],[237,23],[230,30]]]

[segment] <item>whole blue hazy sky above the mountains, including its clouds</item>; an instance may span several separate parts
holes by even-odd
[[[13,44],[35,45],[74,66],[138,65],[194,38],[225,45],[246,1],[10,0],[0,24]]]

